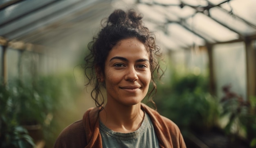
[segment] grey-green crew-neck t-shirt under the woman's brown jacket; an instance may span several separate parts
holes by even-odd
[[[110,130],[101,121],[99,123],[103,148],[158,148],[158,140],[153,124],[145,112],[138,130],[121,133]]]

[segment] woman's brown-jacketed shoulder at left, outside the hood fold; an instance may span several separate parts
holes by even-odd
[[[86,146],[86,135],[83,121],[76,121],[67,126],[58,136],[54,148],[79,148]]]

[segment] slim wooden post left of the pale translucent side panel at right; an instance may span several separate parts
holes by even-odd
[[[213,48],[212,45],[207,44],[207,52],[208,52],[208,58],[209,58],[209,91],[211,95],[216,96],[216,77],[215,77],[215,71],[214,71],[214,65],[213,65]]]

